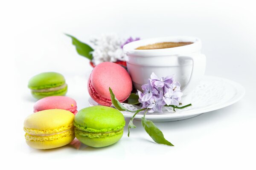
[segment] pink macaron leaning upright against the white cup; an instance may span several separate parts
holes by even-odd
[[[113,62],[102,62],[90,74],[87,89],[94,101],[110,106],[112,103],[109,87],[116,99],[124,102],[132,91],[131,77],[122,66]]]

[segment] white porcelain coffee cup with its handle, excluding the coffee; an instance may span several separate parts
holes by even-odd
[[[189,45],[138,50],[136,48],[157,42],[193,42]],[[130,42],[123,47],[128,72],[137,90],[148,83],[152,72],[157,77],[175,74],[183,96],[192,92],[204,76],[206,57],[201,54],[201,40],[197,37],[159,37]]]

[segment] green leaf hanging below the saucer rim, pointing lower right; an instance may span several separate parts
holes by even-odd
[[[166,144],[169,146],[174,146],[173,144],[171,144],[169,141],[167,141],[164,138],[161,130],[158,129],[158,127],[156,127],[156,125],[154,125],[153,122],[151,122],[150,120],[146,120],[145,117],[142,117],[141,124],[144,127],[144,129],[146,130],[146,132],[148,133],[148,135],[154,140],[154,142],[157,142],[159,144]]]

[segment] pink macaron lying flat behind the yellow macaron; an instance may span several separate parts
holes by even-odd
[[[76,115],[76,101],[67,96],[49,96],[38,100],[34,105],[34,112],[48,109],[63,109]]]

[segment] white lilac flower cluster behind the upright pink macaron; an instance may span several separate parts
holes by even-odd
[[[124,43],[117,34],[102,34],[100,37],[94,37],[90,40],[94,45],[93,64],[98,65],[101,62],[124,61],[124,54],[121,45]]]

